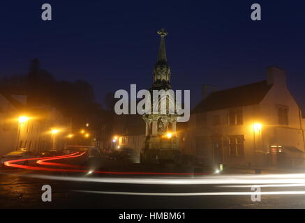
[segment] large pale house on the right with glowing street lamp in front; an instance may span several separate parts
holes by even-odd
[[[186,149],[214,166],[299,167],[304,125],[285,71],[269,67],[262,82],[205,95],[191,112]]]

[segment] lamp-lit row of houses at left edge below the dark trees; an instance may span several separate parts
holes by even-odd
[[[20,116],[24,120],[20,121]],[[62,116],[52,107],[29,107],[27,95],[0,93],[0,155],[18,148],[39,152],[63,148],[63,135],[52,136],[52,127],[62,125]]]

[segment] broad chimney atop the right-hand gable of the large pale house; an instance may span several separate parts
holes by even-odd
[[[275,86],[286,87],[286,72],[281,68],[268,67],[267,72],[267,83],[274,84]]]

